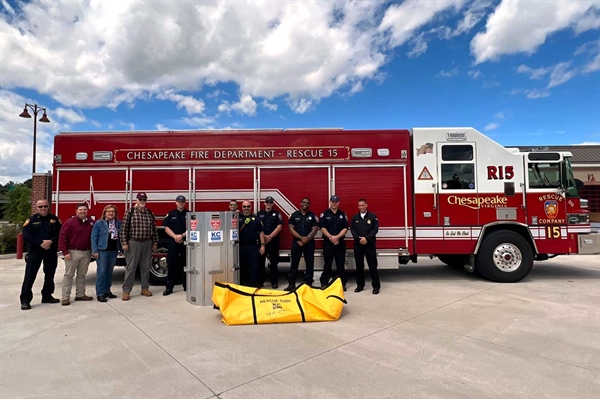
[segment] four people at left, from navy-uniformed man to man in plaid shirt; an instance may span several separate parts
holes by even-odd
[[[32,287],[40,266],[44,265],[44,286],[42,303],[71,304],[71,291],[75,280],[75,301],[91,301],[86,295],[85,277],[93,258],[96,259],[96,297],[99,302],[116,298],[112,293],[112,274],[119,253],[125,253],[127,269],[123,282],[122,300],[130,299],[135,274],[139,265],[142,277],[143,296],[152,296],[149,290],[149,276],[152,252],[158,245],[156,220],[152,211],[146,208],[146,193],[138,193],[136,205],[130,208],[119,220],[117,207],[107,205],[102,217],[94,220],[88,217],[86,203],[76,206],[75,216],[63,224],[49,211],[47,200],[36,203],[37,212],[23,224],[23,238],[28,244],[25,277],[21,287],[21,309],[31,309]],[[185,205],[185,198],[183,201]],[[54,298],[54,275],[57,268],[57,251],[65,259],[65,274],[62,282],[61,299]]]

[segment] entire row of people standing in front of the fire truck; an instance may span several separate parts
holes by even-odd
[[[21,287],[21,309],[31,309],[33,299],[32,287],[40,266],[44,265],[44,286],[42,303],[59,303],[68,306],[71,303],[71,292],[75,280],[75,301],[91,301],[93,297],[86,295],[85,277],[91,258],[97,262],[96,297],[99,302],[107,302],[116,298],[112,293],[112,274],[117,257],[125,253],[127,269],[122,287],[123,301],[128,301],[134,286],[135,274],[140,268],[141,295],[150,297],[149,289],[152,253],[158,246],[158,231],[154,213],[146,208],[146,193],[138,193],[136,204],[119,220],[116,206],[107,205],[102,217],[95,221],[88,217],[89,207],[86,203],[77,204],[75,216],[64,224],[49,211],[47,200],[36,204],[37,212],[23,224],[23,238],[28,244],[25,277]],[[168,247],[168,274],[163,295],[173,293],[175,285],[182,283],[186,290],[183,273],[185,265],[186,236],[186,199],[177,196],[176,209],[169,212],[163,220],[166,234],[171,238]],[[291,264],[288,273],[286,291],[296,288],[298,266],[304,256],[306,271],[304,282],[313,284],[315,236],[320,229],[323,236],[324,267],[320,277],[321,286],[325,287],[335,278],[342,280],[344,291],[348,281],[345,271],[346,242],[345,237],[350,230],[354,239],[354,260],[356,263],[356,288],[360,292],[365,288],[364,261],[367,260],[371,275],[373,294],[380,290],[377,271],[376,235],[379,230],[377,216],[367,210],[367,201],[358,201],[358,213],[349,221],[339,208],[340,199],[331,196],[329,208],[317,217],[310,211],[310,199],[303,198],[300,209],[289,219],[289,232],[292,235]],[[238,211],[236,200],[229,203],[232,211]],[[280,233],[283,229],[281,213],[274,209],[272,197],[266,197],[264,209],[257,214],[252,213],[252,203],[243,201],[242,212],[239,213],[239,248],[240,248],[240,282],[242,285],[262,287],[267,278],[265,272],[266,259],[269,258],[269,280],[272,288],[278,288],[278,263]],[[62,297],[53,297],[54,275],[57,268],[57,250],[65,259],[65,274],[62,283]],[[335,260],[336,270],[333,272]]]

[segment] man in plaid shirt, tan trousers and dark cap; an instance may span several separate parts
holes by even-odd
[[[135,206],[128,210],[123,217],[123,226],[119,234],[127,259],[127,271],[121,298],[124,301],[128,301],[131,296],[138,263],[142,275],[142,295],[152,296],[152,292],[148,289],[150,266],[152,265],[152,252],[156,251],[158,245],[158,231],[154,214],[146,208],[148,196],[146,193],[138,193],[136,198]]]

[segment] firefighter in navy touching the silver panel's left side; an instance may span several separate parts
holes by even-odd
[[[185,275],[183,274],[186,251],[183,240],[186,233],[186,214],[189,211],[185,209],[185,202],[185,197],[178,195],[175,198],[176,208],[167,213],[163,220],[165,232],[171,238],[167,252],[167,283],[163,292],[164,296],[171,295],[178,282],[183,282],[183,290],[186,290]]]

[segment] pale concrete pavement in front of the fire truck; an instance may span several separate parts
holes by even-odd
[[[382,271],[379,295],[354,293],[351,276],[339,321],[252,326],[224,325],[181,286],[40,304],[41,271],[21,311],[23,270],[0,261],[2,398],[600,396],[598,257],[537,262],[517,284],[420,258]],[[56,297],[63,272],[59,261]],[[92,264],[88,295],[94,281]]]

